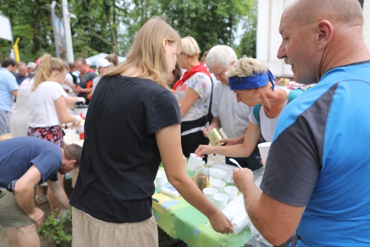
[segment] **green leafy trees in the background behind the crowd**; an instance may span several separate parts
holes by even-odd
[[[57,0],[61,4],[61,0]],[[0,0],[10,18],[21,61],[35,61],[43,52],[55,55],[50,0]],[[216,44],[233,47],[240,56],[256,49],[257,0],[68,0],[74,57],[116,50],[125,56],[140,27],[153,15],[164,15],[182,37],[191,36],[201,55]],[[58,7],[57,15],[61,15]],[[242,26],[238,47],[235,34]],[[0,40],[4,57],[11,42]],[[255,56],[255,55],[254,55]]]

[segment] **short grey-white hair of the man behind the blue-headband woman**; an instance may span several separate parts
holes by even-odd
[[[228,45],[216,45],[213,46],[207,54],[206,65],[208,68],[212,69],[217,65],[222,65],[223,67],[229,67],[233,61],[237,61],[235,51]]]

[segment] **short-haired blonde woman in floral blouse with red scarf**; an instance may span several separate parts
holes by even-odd
[[[189,157],[200,144],[208,144],[203,129],[208,123],[208,108],[211,100],[211,75],[205,64],[200,63],[200,49],[192,37],[182,39],[183,50],[177,61],[185,69],[183,77],[173,87],[181,106],[181,145]],[[207,156],[204,158],[207,161]]]

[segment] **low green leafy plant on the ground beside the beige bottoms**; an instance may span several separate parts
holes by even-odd
[[[72,241],[72,213],[69,208],[66,212],[58,215],[58,218],[54,218],[57,209],[51,212],[51,215],[47,217],[45,223],[37,229],[38,235],[43,240],[52,239],[49,246],[68,247],[71,246]]]

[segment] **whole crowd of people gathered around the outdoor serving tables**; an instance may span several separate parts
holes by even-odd
[[[68,65],[48,54],[28,64],[4,59],[0,138],[12,138],[0,142],[0,224],[10,245],[39,245],[44,214],[35,203],[49,202],[59,212],[72,206],[73,246],[157,246],[151,196],[160,163],[215,231],[232,233],[185,172],[195,153],[244,167],[233,180],[272,245],[292,238],[292,246],[369,246],[370,52],[362,25],[357,0],[287,6],[277,56],[296,82],[317,83],[302,94],[277,86],[263,62],[238,59],[230,46],[200,58],[194,38],[156,16],[124,63],[111,54],[97,72],[82,57]],[[88,105],[83,147],[64,144],[61,125],[82,121],[68,111],[74,104]],[[223,129],[224,145],[209,145],[213,128]],[[258,188],[261,142],[272,144]],[[64,174],[76,167],[69,201]]]

